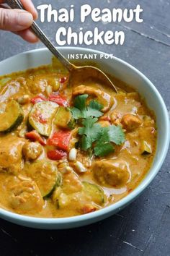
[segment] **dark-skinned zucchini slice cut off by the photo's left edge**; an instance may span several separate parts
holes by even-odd
[[[9,101],[0,111],[0,132],[11,132],[22,123],[24,112],[17,101]]]

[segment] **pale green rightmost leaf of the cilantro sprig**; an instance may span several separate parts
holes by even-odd
[[[122,127],[111,125],[109,128],[109,141],[114,142],[116,145],[121,145],[125,142],[125,133],[122,130]]]

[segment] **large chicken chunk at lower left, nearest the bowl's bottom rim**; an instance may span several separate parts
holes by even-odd
[[[10,203],[17,213],[34,214],[42,210],[44,200],[37,184],[26,178],[11,188]]]

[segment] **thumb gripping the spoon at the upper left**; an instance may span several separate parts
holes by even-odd
[[[17,32],[30,27],[32,22],[33,17],[30,12],[0,8],[0,30]]]

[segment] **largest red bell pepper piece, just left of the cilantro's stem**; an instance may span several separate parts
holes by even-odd
[[[54,132],[53,136],[48,139],[48,145],[53,145],[62,150],[68,150],[69,142],[71,139],[71,132],[60,131]]]

